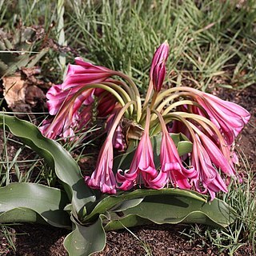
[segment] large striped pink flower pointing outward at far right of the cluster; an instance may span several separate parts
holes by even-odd
[[[195,100],[206,110],[211,122],[222,132],[226,143],[231,145],[242,128],[250,120],[250,113],[242,106],[224,101],[214,95],[197,91]],[[197,114],[202,114],[198,110]],[[204,114],[202,114],[204,115]]]

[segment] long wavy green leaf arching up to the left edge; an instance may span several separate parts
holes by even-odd
[[[78,163],[58,142],[42,136],[38,128],[30,122],[5,114],[0,114],[0,126],[6,126],[14,136],[30,146],[55,170],[58,178],[66,184],[64,188],[70,200],[72,198],[74,214],[81,213],[84,206],[90,207],[95,201],[94,192],[83,182]]]

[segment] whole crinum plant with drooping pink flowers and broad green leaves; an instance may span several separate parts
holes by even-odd
[[[50,88],[40,131],[4,114],[0,125],[36,150],[56,172],[62,189],[12,183],[0,189],[0,222],[48,222],[71,228],[70,255],[102,250],[106,230],[145,223],[198,222],[225,228],[230,206],[215,198],[238,178],[235,137],[249,121],[241,106],[191,87],[163,89],[169,46],[154,54],[142,100],[122,72],[76,58],[66,79]],[[90,176],[54,139],[77,139],[100,120],[98,161]],[[105,136],[105,137],[103,137]],[[48,137],[48,138],[47,138]],[[210,194],[210,198],[206,194]]]

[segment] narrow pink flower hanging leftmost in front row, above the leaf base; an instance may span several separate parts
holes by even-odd
[[[107,137],[98,155],[96,169],[93,174],[85,177],[85,182],[93,189],[102,193],[116,194],[116,181],[113,174],[112,138]]]

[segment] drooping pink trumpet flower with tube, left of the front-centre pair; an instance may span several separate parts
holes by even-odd
[[[120,190],[130,190],[134,184],[138,184],[141,180],[146,187],[159,189],[162,188],[162,181],[159,183],[150,182],[157,177],[158,171],[154,167],[153,149],[150,142],[150,110],[146,114],[146,126],[142,138],[138,143],[138,148],[135,151],[133,161],[130,165],[130,170],[126,170],[122,174],[122,170],[118,170],[116,175],[117,182],[122,183],[118,188]]]

